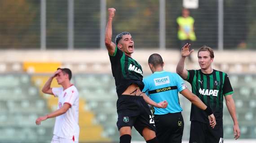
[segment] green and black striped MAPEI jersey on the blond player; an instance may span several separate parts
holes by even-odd
[[[229,76],[222,71],[213,70],[204,74],[201,70],[188,70],[186,79],[192,87],[192,93],[197,95],[205,105],[211,107],[217,121],[222,122],[223,97],[233,94]],[[190,121],[208,123],[207,114],[191,104]]]

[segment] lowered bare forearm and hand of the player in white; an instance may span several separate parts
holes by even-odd
[[[59,115],[62,115],[64,113],[66,113],[66,111],[71,107],[70,104],[68,103],[64,103],[64,105],[62,106],[62,108],[60,109],[57,109],[56,111],[53,111],[52,113],[50,114],[47,114],[47,115],[44,115],[44,116],[41,116],[39,118],[37,118],[35,120],[35,124],[36,125],[40,125],[42,121],[48,119],[48,118],[54,118],[54,117],[57,117]]]

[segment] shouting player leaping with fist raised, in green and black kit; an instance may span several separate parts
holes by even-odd
[[[115,43],[111,41],[115,8],[109,8],[108,12],[105,45],[110,57],[118,95],[116,105],[120,143],[131,142],[132,126],[144,137],[146,143],[158,143],[154,119],[147,103],[158,108],[166,108],[168,103],[166,101],[155,103],[145,93],[141,93],[144,88],[143,71],[141,65],[132,59],[133,38],[128,32],[122,32],[116,36]]]

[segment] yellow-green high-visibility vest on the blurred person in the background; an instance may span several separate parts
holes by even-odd
[[[193,25],[194,25],[194,18],[193,17],[178,17],[177,23],[180,27],[182,27],[187,33],[189,33],[189,36],[185,33],[185,31],[178,30],[178,38],[180,40],[191,40],[195,41],[196,37],[194,34]]]

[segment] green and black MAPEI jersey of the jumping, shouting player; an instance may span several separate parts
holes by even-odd
[[[137,84],[142,91],[144,83],[142,82],[143,71],[141,65],[117,47],[115,47],[115,53],[109,55],[109,57],[118,97],[131,84]]]

